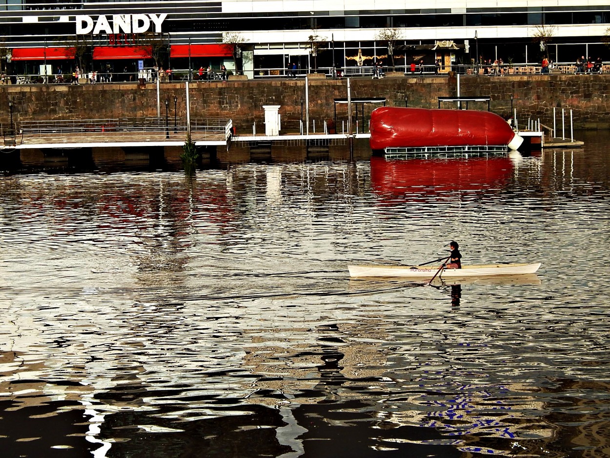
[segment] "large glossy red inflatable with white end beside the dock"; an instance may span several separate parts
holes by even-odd
[[[371,112],[373,150],[436,146],[508,145],[523,139],[488,111],[379,107]]]

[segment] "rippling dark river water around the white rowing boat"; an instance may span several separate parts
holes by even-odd
[[[610,138],[580,137],[2,177],[0,456],[610,456]],[[451,239],[465,263],[542,267],[348,277]]]

